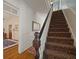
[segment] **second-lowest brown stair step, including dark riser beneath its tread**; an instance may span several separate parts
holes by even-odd
[[[65,52],[65,53],[73,54],[73,55],[76,54],[75,53],[76,49],[73,45],[47,42],[46,43],[46,49],[61,51],[61,52]]]

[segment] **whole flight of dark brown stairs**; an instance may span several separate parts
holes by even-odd
[[[43,59],[76,59],[74,40],[61,10],[52,14]]]

